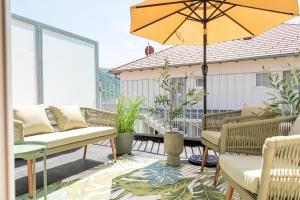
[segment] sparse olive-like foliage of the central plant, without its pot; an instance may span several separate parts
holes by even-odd
[[[185,80],[189,78],[191,78],[191,75],[185,76]],[[155,116],[163,115],[166,128],[173,133],[172,124],[174,119],[182,114],[184,107],[193,106],[202,100],[205,92],[203,89],[198,91],[195,88],[189,89],[182,102],[174,103],[173,99],[179,90],[179,85],[172,84],[172,79],[169,73],[169,61],[167,59],[165,60],[160,80],[159,87],[162,90],[162,94],[155,97],[154,108],[150,108],[149,111]]]

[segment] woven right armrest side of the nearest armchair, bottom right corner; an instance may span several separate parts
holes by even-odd
[[[266,140],[258,199],[297,199],[300,196],[299,147],[300,135]]]

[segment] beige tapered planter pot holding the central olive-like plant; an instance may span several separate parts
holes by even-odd
[[[168,154],[167,165],[176,167],[180,165],[180,154],[183,152],[183,134],[181,132],[170,133],[164,135],[164,148]]]

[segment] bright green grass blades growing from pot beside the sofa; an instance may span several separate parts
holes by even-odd
[[[131,99],[124,95],[119,96],[116,106],[118,133],[132,133],[134,131],[134,124],[140,114],[142,102],[140,97]]]

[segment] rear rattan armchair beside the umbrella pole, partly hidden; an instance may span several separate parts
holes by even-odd
[[[222,126],[225,124],[239,123],[243,127],[243,123],[251,122],[256,120],[263,120],[274,118],[276,114],[265,113],[263,115],[250,114],[241,115],[242,110],[228,111],[221,113],[211,113],[202,116],[202,131],[201,131],[201,142],[205,145],[203,159],[201,163],[201,172],[204,169],[206,159],[208,156],[208,150],[211,149],[214,152],[220,151],[219,141],[222,133]],[[220,174],[220,165],[217,162],[216,174],[214,178],[214,186],[218,183],[218,177]]]

